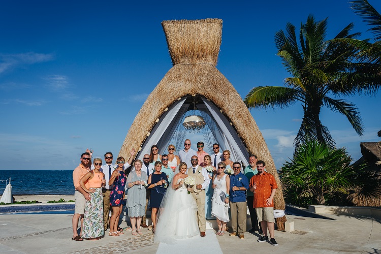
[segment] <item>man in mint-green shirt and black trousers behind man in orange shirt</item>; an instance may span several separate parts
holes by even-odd
[[[257,156],[254,154],[249,155],[249,165],[245,168],[243,171],[243,174],[247,177],[247,179],[250,181],[251,177],[253,175],[256,175],[258,173],[257,170]],[[246,192],[246,200],[247,200],[247,206],[249,208],[250,213],[250,219],[251,219],[251,226],[252,228],[249,230],[250,233],[254,233],[255,231],[258,231],[259,234],[263,234],[261,224],[258,227],[258,217],[256,209],[253,208],[252,202],[254,199],[254,194],[248,189]]]

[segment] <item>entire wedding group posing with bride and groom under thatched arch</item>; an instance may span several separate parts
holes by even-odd
[[[112,165],[111,152],[105,154],[106,165],[102,165],[101,158],[95,158],[92,166],[91,153],[83,153],[81,164],[73,172],[76,208],[72,239],[96,240],[104,236],[108,227],[109,236],[124,234],[118,226],[123,205],[128,208],[132,234],[141,235],[141,228],[151,228],[155,242],[172,243],[198,234],[204,237],[206,219],[214,218],[217,236],[225,235],[231,219],[229,235],[244,239],[247,201],[252,225],[249,232],[263,231],[264,236],[258,242],[270,241],[276,246],[273,197],[277,185],[266,172],[265,162],[250,155],[250,165],[242,169],[240,162],[230,160],[229,150],[219,151],[218,144],[213,144],[211,155],[203,150],[203,142],[197,143],[198,151],[190,146],[190,140],[186,139],[178,155],[174,154],[176,148],[172,144],[168,154],[160,155],[158,147],[152,145],[150,154],[143,155],[143,162],[135,160],[130,172],[126,169],[135,150],[131,150],[128,162],[118,157],[116,165]],[[152,211],[152,225],[147,225],[147,209]]]

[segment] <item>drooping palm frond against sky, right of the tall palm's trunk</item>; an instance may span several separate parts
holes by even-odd
[[[329,108],[333,112],[339,112],[345,115],[348,121],[351,123],[353,129],[355,129],[356,133],[359,136],[363,136],[363,121],[360,117],[360,112],[358,108],[356,108],[353,103],[344,100],[335,100],[327,96],[323,98],[323,103],[327,108]]]

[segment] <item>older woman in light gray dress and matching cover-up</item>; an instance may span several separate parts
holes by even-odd
[[[135,170],[127,177],[127,187],[129,188],[127,207],[134,236],[142,234],[140,224],[145,213],[148,176],[146,172],[141,170],[142,165],[142,161],[136,160],[134,163]]]

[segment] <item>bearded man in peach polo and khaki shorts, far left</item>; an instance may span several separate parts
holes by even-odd
[[[91,166],[90,153],[84,152],[81,154],[81,164],[73,171],[73,184],[75,187],[75,211],[73,215],[73,238],[74,241],[83,241],[82,237],[78,235],[78,219],[81,218],[81,233],[83,226],[83,215],[85,213],[86,200],[90,201],[90,194],[79,185],[81,178],[87,174]],[[88,181],[85,182],[85,186],[89,188]]]

